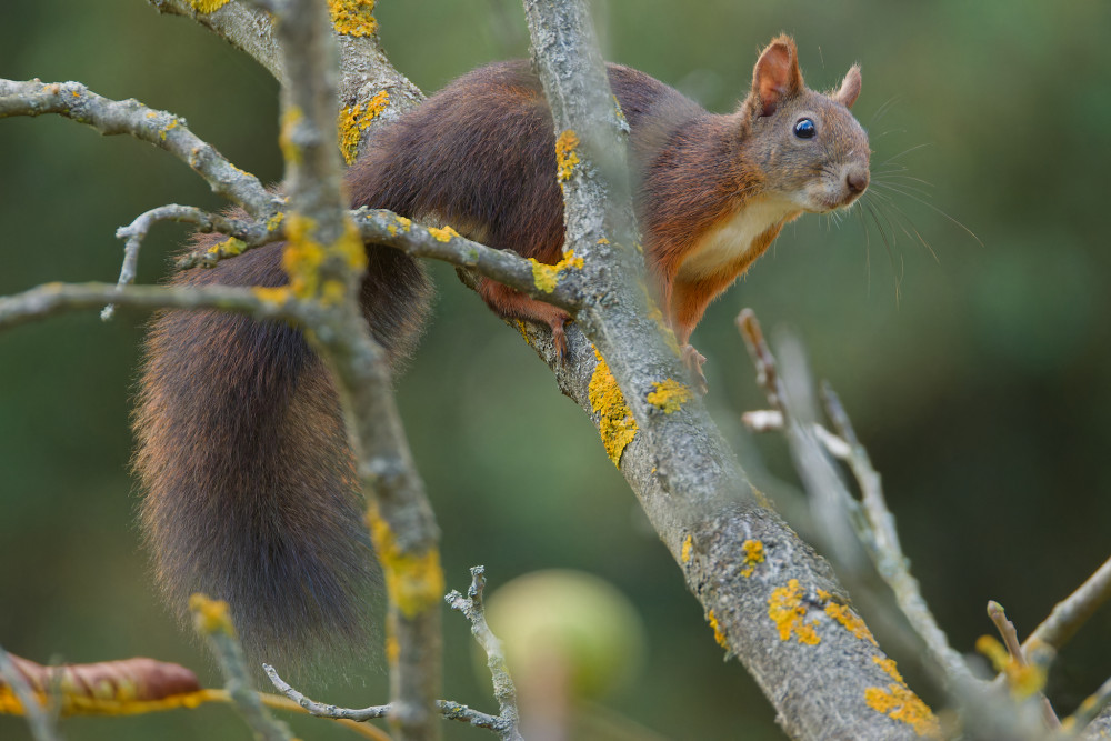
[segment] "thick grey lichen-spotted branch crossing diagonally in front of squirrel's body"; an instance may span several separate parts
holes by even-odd
[[[583,259],[590,286],[577,323],[593,347],[569,333],[561,388],[598,421],[713,635],[749,669],[788,734],[933,732],[937,721],[874,644],[828,564],[755,501],[689,388],[673,338],[653,319],[621,164],[622,119],[584,4],[524,6],[562,143],[564,251]]]

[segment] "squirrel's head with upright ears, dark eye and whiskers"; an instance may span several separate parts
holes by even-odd
[[[768,44],[738,110],[744,160],[755,166],[764,192],[817,212],[849,206],[864,192],[871,150],[849,112],[859,94],[859,67],[823,94],[803,83],[791,37]]]

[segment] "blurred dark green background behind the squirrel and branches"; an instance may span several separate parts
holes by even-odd
[[[378,17],[394,64],[427,92],[527,53],[511,0],[382,0]],[[927,192],[873,198],[878,223],[858,209],[865,218],[805,217],[787,229],[694,334],[709,358],[707,401],[762,488],[792,485],[782,441],[738,429],[739,414],[763,402],[732,318],[748,306],[765,328],[790,327],[883,473],[953,644],[969,651],[991,632],[989,599],[1021,633],[1032,630],[1111,551],[1111,292],[1100,288],[1111,276],[1100,196],[1111,164],[1111,6],[698,0],[677,12],[662,0],[611,0],[598,19],[609,59],[711,110],[732,108],[779,31],[795,36],[811,87],[862,64],[854,112],[873,170],[904,164],[931,184],[889,181]],[[7,4],[0,76],[138,98],[186,117],[240,167],[280,177],[274,82],[142,0]],[[114,280],[116,228],[167,202],[220,206],[146,144],[56,117],[0,121],[0,294]],[[156,230],[140,280],[167,274],[184,233]],[[474,563],[494,585],[549,567],[599,574],[633,600],[651,643],[638,681],[609,707],[664,738],[780,738],[759,690],[722,663],[589,421],[517,332],[450,270],[436,276],[436,320],[398,394],[444,531],[449,585],[464,588]],[[0,333],[0,644],[39,661],[152,655],[214,681],[202,648],[160,605],[139,548],[128,413],[143,321],[87,312]],[[447,697],[491,709],[468,667],[467,625],[444,622]],[[1064,652],[1050,684],[1059,709],[1111,672],[1109,629],[1104,609]],[[368,704],[383,687],[376,669],[333,682],[328,699]],[[319,722],[298,729],[351,738]],[[248,738],[222,708],[74,719],[64,730]],[[0,738],[24,733],[0,717]],[[448,737],[487,738],[456,727]]]

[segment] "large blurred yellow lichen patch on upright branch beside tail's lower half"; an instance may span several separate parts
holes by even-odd
[[[390,601],[406,618],[438,609],[443,597],[443,571],[440,569],[440,551],[429,548],[423,553],[406,552],[398,544],[390,523],[370,505],[367,525],[374,543],[374,552],[382,564],[386,591]]]

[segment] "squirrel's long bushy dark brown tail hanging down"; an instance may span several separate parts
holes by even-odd
[[[281,249],[174,282],[280,286]],[[430,288],[404,254],[368,253],[363,303],[396,367]],[[134,430],[142,529],[176,611],[196,591],[228,600],[252,658],[271,662],[367,644],[378,575],[362,492],[331,378],[299,331],[214,311],[160,314]]]

